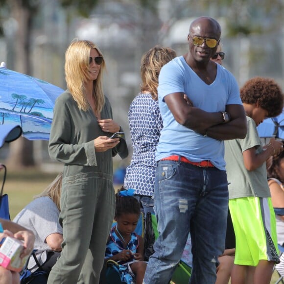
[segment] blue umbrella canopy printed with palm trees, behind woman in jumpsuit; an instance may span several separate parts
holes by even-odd
[[[0,124],[20,125],[29,140],[48,140],[55,99],[64,91],[0,67]]]

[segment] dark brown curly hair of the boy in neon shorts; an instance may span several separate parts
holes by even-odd
[[[279,85],[271,78],[255,77],[248,80],[240,89],[243,103],[257,103],[273,118],[281,114],[284,95]]]

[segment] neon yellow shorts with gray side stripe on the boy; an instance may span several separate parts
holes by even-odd
[[[279,262],[276,219],[271,198],[229,200],[236,235],[235,264],[257,266],[260,260]]]

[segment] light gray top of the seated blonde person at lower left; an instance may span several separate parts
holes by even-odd
[[[58,216],[56,204],[48,196],[43,196],[30,202],[13,220],[35,234],[34,249],[37,249],[36,256],[40,264],[47,260],[47,252],[51,250],[46,238],[54,233],[63,234]],[[33,258],[30,258],[28,269],[33,272],[37,268]]]

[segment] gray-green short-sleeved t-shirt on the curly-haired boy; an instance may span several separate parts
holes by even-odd
[[[253,147],[256,153],[263,151],[255,121],[247,117],[247,135],[244,139],[225,141],[225,161],[229,184],[229,198],[271,197],[267,183],[266,165],[248,171],[244,166],[242,153]]]

